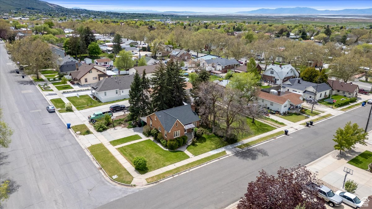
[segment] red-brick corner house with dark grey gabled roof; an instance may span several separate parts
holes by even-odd
[[[183,105],[155,112],[146,117],[147,125],[157,129],[167,141],[179,136],[193,137],[195,127],[199,127],[200,118],[194,105]]]

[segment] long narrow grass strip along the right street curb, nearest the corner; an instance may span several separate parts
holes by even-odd
[[[176,173],[179,173],[181,171],[184,171],[184,170],[187,170],[189,168],[192,168],[192,167],[195,167],[196,165],[200,165],[200,164],[203,164],[205,162],[208,162],[208,161],[211,161],[211,160],[214,160],[218,157],[221,157],[221,156],[224,156],[226,155],[226,151],[223,151],[223,152],[219,152],[217,154],[214,154],[214,155],[211,155],[209,157],[205,157],[205,158],[202,158],[200,160],[196,160],[192,163],[187,163],[186,165],[182,165],[180,167],[177,167],[177,168],[174,168],[172,170],[169,170],[169,171],[166,171],[164,173],[161,173],[161,174],[158,174],[156,176],[153,176],[153,177],[150,177],[150,178],[147,178],[146,181],[147,183],[151,183],[151,182],[154,182],[154,181],[158,181],[160,179],[164,179],[168,176],[171,176],[173,174],[176,174]]]

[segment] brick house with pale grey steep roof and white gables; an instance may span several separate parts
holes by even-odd
[[[272,82],[274,84],[282,84],[291,78],[297,78],[299,76],[297,70],[290,64],[288,65],[275,65],[271,64],[262,73],[262,79],[264,81]]]

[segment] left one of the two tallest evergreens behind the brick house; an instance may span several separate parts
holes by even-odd
[[[170,95],[169,87],[166,85],[167,74],[164,62],[160,61],[155,69],[154,77],[150,81],[153,89],[151,92],[151,105],[154,111],[160,111],[168,109],[166,101],[170,98]]]

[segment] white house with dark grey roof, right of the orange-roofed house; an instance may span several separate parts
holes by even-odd
[[[318,86],[318,87],[317,87]],[[315,95],[315,90],[317,95]],[[289,91],[302,94],[304,99],[311,98],[315,100],[324,99],[331,94],[332,88],[327,83],[311,83],[301,78],[292,78],[282,84],[282,91]]]

